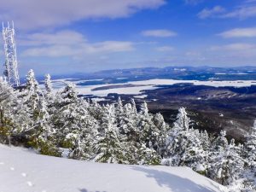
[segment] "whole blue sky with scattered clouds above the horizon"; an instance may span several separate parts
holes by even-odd
[[[256,0],[0,3],[0,20],[15,21],[21,76],[30,68],[42,75],[130,67],[256,66]]]

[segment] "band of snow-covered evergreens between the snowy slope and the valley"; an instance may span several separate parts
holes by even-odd
[[[54,92],[46,75],[39,89],[31,70],[14,90],[0,80],[0,142],[35,148],[40,154],[104,163],[189,166],[224,185],[256,184],[256,121],[247,142],[221,131],[211,137],[193,129],[185,108],[167,125],[147,103],[99,105],[79,97],[73,84]]]

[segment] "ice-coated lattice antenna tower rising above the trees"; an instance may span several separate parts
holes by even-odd
[[[5,54],[5,71],[3,74],[10,84],[14,86],[20,86],[18,61],[16,55],[14,21],[12,21],[12,26],[9,25],[9,22],[7,23],[7,26],[3,25],[3,43]]]

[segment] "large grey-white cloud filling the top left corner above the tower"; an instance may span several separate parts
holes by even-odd
[[[141,9],[157,9],[165,0],[1,0],[1,20],[22,29],[62,26],[84,19],[127,17]]]

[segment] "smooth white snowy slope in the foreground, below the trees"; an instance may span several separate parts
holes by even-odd
[[[187,167],[100,164],[0,145],[0,192],[214,192],[218,186]]]

